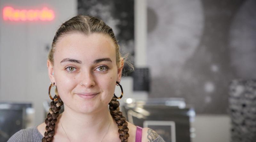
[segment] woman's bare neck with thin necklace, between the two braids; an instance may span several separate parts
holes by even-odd
[[[110,124],[112,126],[115,125],[115,120],[111,117],[107,107],[92,114],[75,112],[65,107],[65,111],[61,114],[59,121],[70,139],[99,138],[99,136],[106,134]],[[59,128],[62,129],[61,127]]]

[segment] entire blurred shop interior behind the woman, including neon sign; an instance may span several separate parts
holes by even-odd
[[[256,141],[255,0],[0,0],[0,9],[1,142],[44,122],[47,55],[77,14],[106,22],[130,54],[120,100],[129,122],[169,142]]]

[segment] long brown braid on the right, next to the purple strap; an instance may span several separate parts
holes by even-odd
[[[119,111],[119,102],[113,96],[112,100],[108,104],[110,114],[116,120],[116,124],[118,124],[119,138],[122,142],[127,142],[129,137],[129,129],[127,127],[128,123],[126,122],[125,117],[123,117],[123,113]]]

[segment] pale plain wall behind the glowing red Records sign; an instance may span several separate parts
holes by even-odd
[[[54,10],[53,21],[3,21],[4,6],[16,9]],[[46,46],[51,46],[58,26],[76,15],[76,0],[1,0],[0,18],[0,101],[32,102],[35,124],[44,120],[42,102],[49,100]]]

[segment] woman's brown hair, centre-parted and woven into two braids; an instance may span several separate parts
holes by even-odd
[[[48,59],[52,63],[52,66],[54,64],[53,61],[53,54],[56,50],[56,43],[58,39],[68,33],[72,32],[81,32],[86,35],[92,34],[92,33],[102,33],[107,36],[109,36],[115,44],[115,49],[116,49],[116,65],[117,67],[121,67],[121,59],[127,58],[121,57],[121,54],[119,52],[119,45],[117,43],[115,34],[112,30],[111,27],[109,27],[107,24],[105,24],[102,20],[92,17],[92,16],[84,16],[84,15],[78,15],[75,16],[65,23],[63,23],[60,28],[57,30],[53,41],[52,41],[52,48],[49,52]],[[124,59],[125,61],[125,59]],[[133,70],[132,64],[129,62],[125,61],[126,64],[131,67],[131,70]],[[57,88],[56,88],[57,89]],[[55,90],[56,92],[56,90]],[[56,92],[57,93],[57,92]],[[57,96],[54,96],[55,98]],[[57,122],[57,118],[59,117],[59,111],[60,111],[60,106],[63,105],[63,102],[59,98],[57,101],[52,101],[51,102],[51,108],[50,112],[47,115],[47,118],[45,119],[45,124],[46,124],[46,131],[44,133],[44,138],[42,138],[42,142],[51,142],[55,133],[55,123]],[[112,100],[109,103],[109,110],[110,114],[113,119],[115,119],[116,124],[118,126],[118,133],[119,133],[119,138],[121,139],[122,142],[127,142],[128,137],[129,137],[129,129],[128,129],[128,124],[126,122],[125,117],[123,116],[123,113],[119,111],[119,102],[117,99],[113,96]]]

